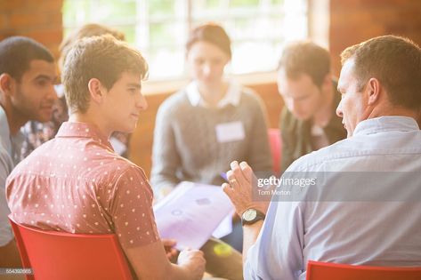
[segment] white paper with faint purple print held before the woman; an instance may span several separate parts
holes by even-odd
[[[154,207],[159,235],[199,249],[234,209],[219,186],[182,182]]]

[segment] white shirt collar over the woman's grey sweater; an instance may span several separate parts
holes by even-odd
[[[195,81],[192,81],[186,87],[187,97],[190,100],[190,104],[193,107],[202,106],[208,107],[206,101],[202,99],[200,96],[200,92],[198,92],[198,84]],[[219,100],[218,104],[216,105],[217,108],[223,108],[228,105],[232,105],[234,107],[239,106],[239,100],[241,97],[241,86],[233,81],[229,81],[228,90],[223,97],[222,100]]]

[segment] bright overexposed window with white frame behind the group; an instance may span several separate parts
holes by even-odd
[[[276,68],[285,42],[307,37],[306,0],[64,0],[64,36],[88,22],[125,33],[150,64],[150,80],[185,75],[191,28],[214,21],[231,37],[232,74]]]

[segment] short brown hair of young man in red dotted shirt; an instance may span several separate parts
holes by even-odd
[[[97,78],[109,90],[124,72],[141,79],[148,75],[141,52],[110,35],[78,40],[70,49],[61,73],[70,112],[85,113],[89,108],[89,80]]]

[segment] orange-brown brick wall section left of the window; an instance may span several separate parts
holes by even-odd
[[[28,36],[59,56],[63,0],[0,0],[0,40]]]

